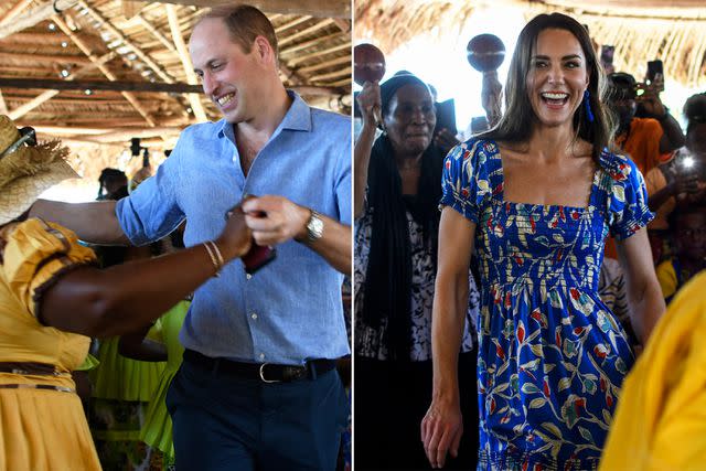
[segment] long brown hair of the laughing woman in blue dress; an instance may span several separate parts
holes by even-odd
[[[586,98],[574,114],[574,129],[576,136],[593,144],[592,158],[599,162],[601,151],[609,147],[613,138],[613,119],[603,100],[607,86],[603,69],[598,63],[596,51],[588,31],[571,17],[561,13],[539,14],[533,18],[520,32],[517,45],[510,62],[507,82],[505,84],[505,114],[500,122],[491,130],[479,136],[505,142],[524,143],[530,140],[536,115],[530,103],[526,77],[530,73],[532,54],[537,44],[539,33],[547,29],[566,30],[574,34],[581,45],[586,57],[589,76],[589,105],[593,114],[590,122],[586,111]]]

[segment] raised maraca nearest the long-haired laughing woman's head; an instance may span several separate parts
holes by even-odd
[[[471,67],[483,73],[483,108],[488,114],[490,126],[494,126],[501,116],[500,93],[502,86],[498,81],[498,67],[505,60],[505,45],[494,34],[479,34],[468,42],[467,57]]]

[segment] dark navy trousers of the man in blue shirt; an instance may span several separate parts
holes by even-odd
[[[335,370],[266,384],[186,360],[167,407],[178,471],[333,471],[349,416]]]

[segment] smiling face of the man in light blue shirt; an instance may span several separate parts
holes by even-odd
[[[257,47],[249,53],[231,40],[225,23],[207,19],[194,29],[189,43],[191,60],[201,77],[203,92],[223,113],[228,122],[254,118],[261,63]]]

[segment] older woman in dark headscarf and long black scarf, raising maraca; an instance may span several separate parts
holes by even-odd
[[[431,140],[431,94],[416,76],[366,83],[357,99],[364,124],[354,151],[355,468],[420,469],[427,467],[418,425],[431,397],[431,302],[443,156]],[[377,139],[374,107],[382,109],[385,128]],[[467,301],[460,347],[462,367],[469,370],[474,364],[469,330],[475,315],[474,288],[471,278],[474,296]],[[469,429],[474,429],[474,384],[462,387],[468,388],[463,405]],[[470,468],[473,454],[458,464]]]

